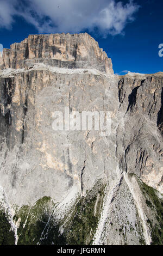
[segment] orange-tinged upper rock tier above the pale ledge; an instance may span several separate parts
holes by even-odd
[[[31,68],[45,63],[65,68],[95,68],[113,74],[111,59],[98,43],[85,34],[29,35],[21,43],[3,50],[1,68]]]

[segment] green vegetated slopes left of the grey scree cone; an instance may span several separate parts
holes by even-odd
[[[18,245],[85,245],[91,244],[101,215],[104,186],[98,182],[85,197],[78,198],[64,220],[56,223],[53,216],[55,204],[50,197],[43,197],[30,207],[14,205]],[[59,228],[63,232],[60,234]],[[7,217],[0,211],[0,245],[14,245]]]

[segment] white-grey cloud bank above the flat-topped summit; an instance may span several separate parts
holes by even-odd
[[[95,29],[106,36],[121,34],[139,6],[116,0],[0,0],[0,28],[23,17],[39,33],[79,33]]]

